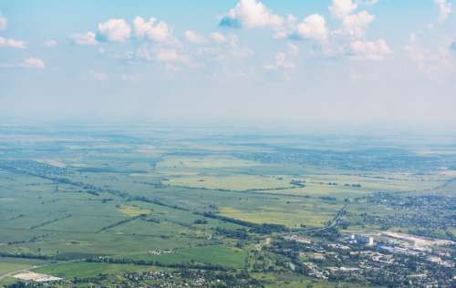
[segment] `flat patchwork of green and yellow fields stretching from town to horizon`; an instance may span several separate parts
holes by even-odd
[[[337,225],[341,212],[347,231],[376,231],[382,228],[377,218],[402,214],[372,205],[370,195],[451,195],[456,177],[436,170],[451,167],[452,159],[412,151],[413,169],[365,148],[362,159],[350,150],[347,166],[339,147],[316,149],[318,139],[219,139],[216,131],[192,139],[184,132],[102,128],[66,137],[36,129],[4,132],[0,276],[33,266],[66,279],[181,267],[249,270],[246,259],[261,251],[266,237],[324,231]],[[388,165],[392,172],[385,172]],[[373,218],[367,220],[366,211]],[[401,228],[391,222],[388,229]],[[265,287],[335,287],[293,273],[285,277],[290,271],[283,269],[252,275]],[[0,283],[11,282],[3,277]]]

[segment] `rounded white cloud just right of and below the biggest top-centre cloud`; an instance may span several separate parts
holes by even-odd
[[[328,29],[325,17],[309,15],[296,26],[295,34],[299,37],[324,42],[327,39]]]

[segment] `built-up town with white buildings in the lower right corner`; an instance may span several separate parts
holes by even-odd
[[[384,231],[344,233],[337,241],[314,241],[292,234],[265,249],[292,259],[288,265],[296,272],[319,279],[452,286],[456,281],[451,252],[455,244]]]

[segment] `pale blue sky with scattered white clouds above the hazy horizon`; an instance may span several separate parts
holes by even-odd
[[[0,118],[456,126],[453,0],[0,0]]]

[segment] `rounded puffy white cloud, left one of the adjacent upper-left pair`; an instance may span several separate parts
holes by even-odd
[[[109,19],[98,24],[97,38],[100,41],[125,42],[130,34],[130,25],[124,19]]]

